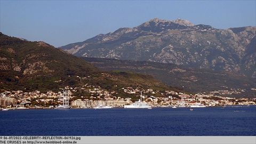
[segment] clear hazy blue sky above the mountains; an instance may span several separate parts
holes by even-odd
[[[215,28],[255,26],[256,1],[2,1],[0,31],[54,46],[82,42],[153,18]]]

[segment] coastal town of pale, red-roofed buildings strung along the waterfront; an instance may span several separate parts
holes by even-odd
[[[141,89],[136,87],[122,87],[124,97],[118,97],[117,91],[108,91],[100,86],[85,84],[82,87],[66,86],[59,92],[40,91],[24,92],[4,91],[0,93],[1,108],[28,109],[28,108],[56,108],[62,105],[63,90],[67,90],[68,105],[71,108],[93,108],[97,106],[111,106],[111,108],[123,108],[133,102],[141,100],[151,107],[191,107],[199,103],[205,107],[230,106],[230,105],[255,105],[256,98],[230,98],[210,94],[186,94],[175,91],[159,91],[153,89]],[[77,91],[85,92],[81,96]]]

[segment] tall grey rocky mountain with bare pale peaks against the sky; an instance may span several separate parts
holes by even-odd
[[[79,57],[174,63],[255,77],[255,31],[155,18],[60,48]]]

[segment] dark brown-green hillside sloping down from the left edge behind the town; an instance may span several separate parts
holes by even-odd
[[[45,42],[0,33],[0,91],[59,91],[85,84],[122,93],[122,87],[169,90],[150,75],[106,72]],[[126,97],[126,95],[122,95]]]

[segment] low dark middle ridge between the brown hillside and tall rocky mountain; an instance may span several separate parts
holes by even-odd
[[[106,71],[131,71],[151,75],[179,89],[193,93],[212,93],[227,97],[254,97],[255,82],[246,76],[227,71],[187,68],[172,63],[150,61],[83,58],[95,67]],[[225,92],[226,91],[226,92]]]

